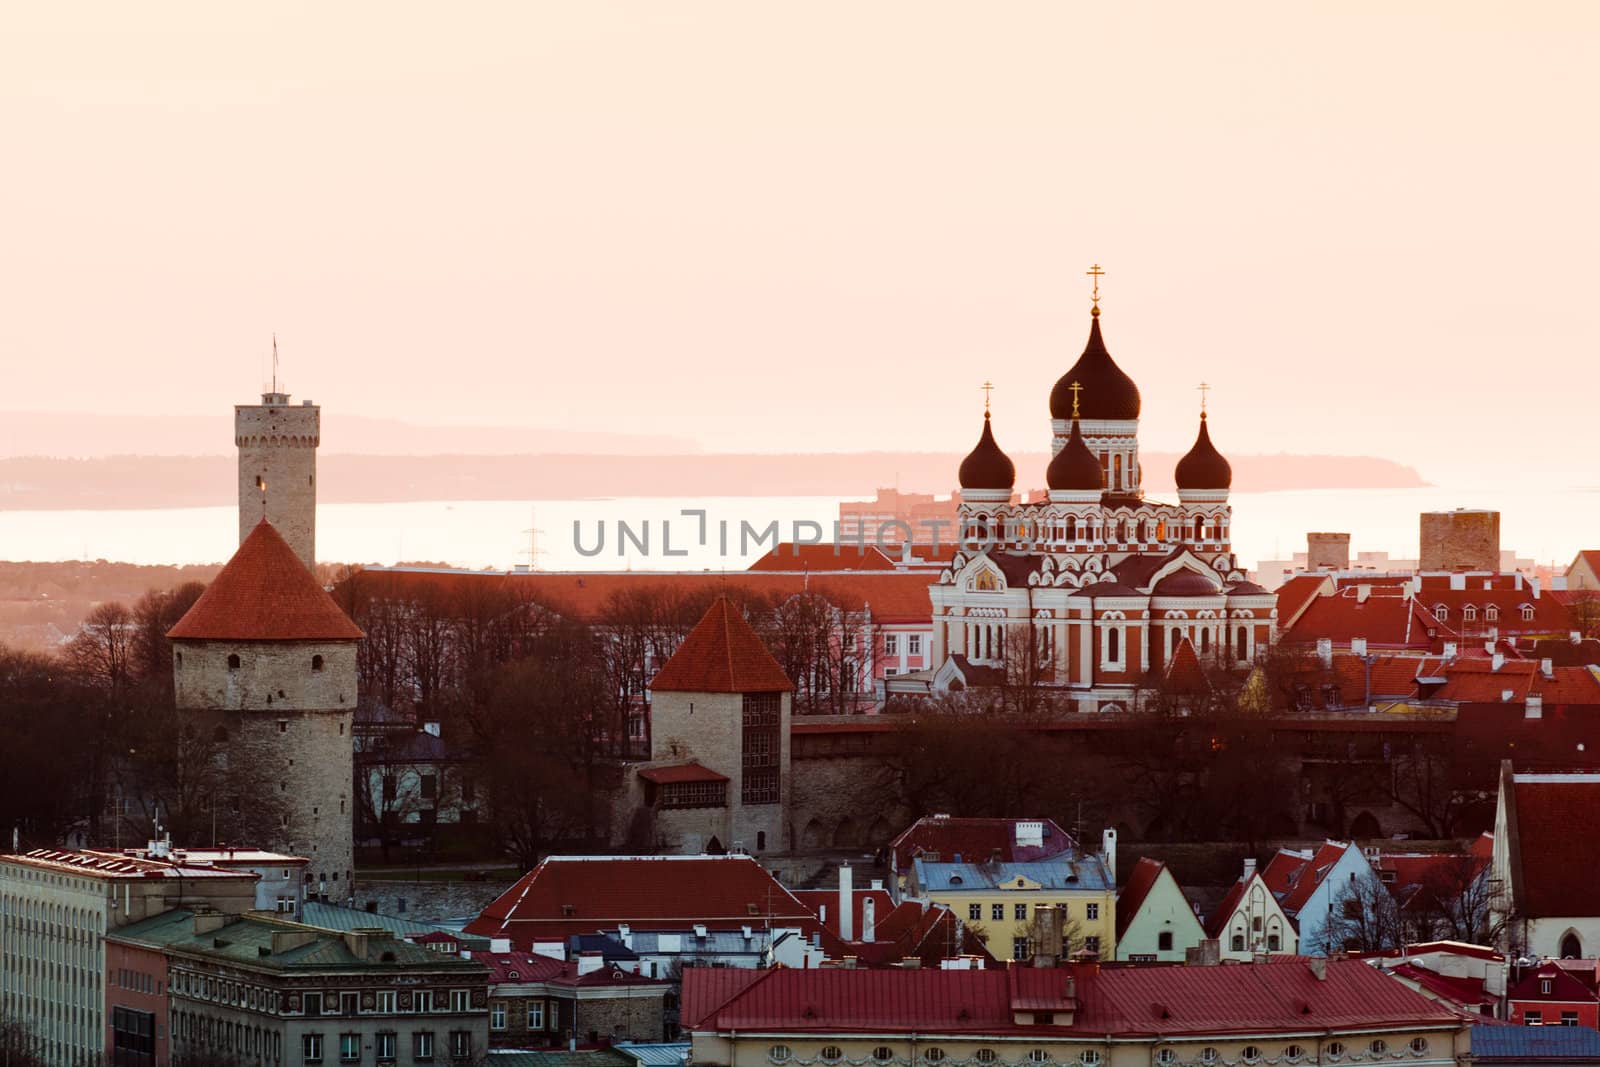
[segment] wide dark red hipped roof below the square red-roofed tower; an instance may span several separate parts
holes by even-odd
[[[534,941],[638,929],[739,929],[755,923],[819,929],[816,915],[749,856],[552,856],[517,880],[466,933]]]

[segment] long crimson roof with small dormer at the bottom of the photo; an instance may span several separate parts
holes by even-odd
[[[1075,1011],[1066,1000],[1075,977]],[[774,969],[742,989],[709,968],[683,974],[683,1021],[698,1033],[1139,1035],[1302,1033],[1309,1029],[1451,1025],[1448,1008],[1358,960],[1213,968]],[[1072,1025],[1018,1024],[1032,1005]]]

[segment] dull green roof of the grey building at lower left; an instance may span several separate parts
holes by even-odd
[[[405,968],[429,968],[482,973],[486,969],[482,963],[474,963],[472,960],[429,952],[421,945],[395,941],[392,936],[387,936],[387,931],[374,931],[379,941],[370,947],[368,955],[363,958],[350,952],[342,933],[304,923],[238,915],[229,917],[226,926],[197,934],[194,918],[194,912],[182,909],[163,912],[154,918],[122,926],[109,933],[107,937],[274,971],[398,971]],[[283,933],[310,934],[310,941],[293,949],[272,952],[272,936]]]

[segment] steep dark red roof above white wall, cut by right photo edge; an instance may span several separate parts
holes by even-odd
[[[1594,872],[1600,870],[1600,774],[1514,776],[1510,825],[1514,894],[1528,918],[1600,915]]]

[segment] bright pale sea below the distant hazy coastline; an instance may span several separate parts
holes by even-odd
[[[322,504],[317,555],[469,569],[738,571],[774,537],[830,541],[838,502],[728,496]],[[1230,504],[1234,550],[1251,569],[1304,552],[1307,531],[1347,531],[1354,552],[1414,558],[1418,515],[1456,507],[1499,510],[1501,547],[1536,565],[1565,568],[1579,549],[1600,545],[1600,486],[1571,482],[1234,493]],[[219,563],[237,545],[237,523],[234,507],[0,510],[0,560]]]

